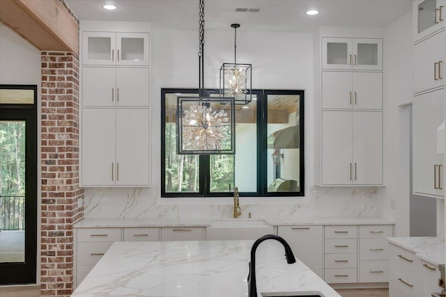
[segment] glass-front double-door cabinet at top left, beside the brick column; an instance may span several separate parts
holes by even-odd
[[[84,31],[82,63],[84,65],[149,65],[148,33]]]

